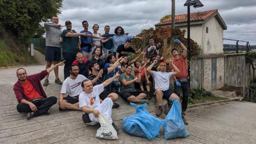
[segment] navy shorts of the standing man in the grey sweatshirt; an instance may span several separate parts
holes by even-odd
[[[61,50],[55,46],[46,46],[45,48],[45,60],[48,62],[60,61]]]

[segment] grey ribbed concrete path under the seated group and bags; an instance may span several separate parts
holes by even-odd
[[[45,64],[24,67],[28,74],[44,70]],[[256,104],[249,102],[228,102],[202,106],[188,110],[189,123],[187,138],[165,141],[163,130],[160,138],[147,140],[126,134],[122,130],[122,118],[135,112],[132,106],[118,99],[120,108],[113,109],[113,120],[120,128],[118,140],[103,140],[95,137],[99,126],[87,126],[82,122],[82,112],[59,111],[58,104],[52,106],[49,116],[42,115],[26,120],[26,114],[16,110],[18,104],[13,84],[16,82],[16,70],[0,70],[0,144],[255,144],[256,143]],[[60,80],[63,80],[63,66],[60,67]],[[50,84],[44,87],[48,96],[57,96],[60,85],[54,84],[54,73],[50,74]],[[42,80],[43,83],[44,80]],[[148,111],[154,111],[150,102]]]

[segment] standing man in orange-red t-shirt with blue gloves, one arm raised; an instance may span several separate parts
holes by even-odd
[[[174,39],[173,39],[174,40]],[[180,44],[183,49],[183,53],[179,56],[179,52],[177,49],[172,49],[172,55],[174,56],[173,63],[175,66],[180,70],[180,73],[176,76],[173,76],[175,81],[174,83],[174,92],[180,97],[180,90],[182,89],[182,114],[186,115],[186,109],[188,106],[188,95],[189,95],[189,77],[188,77],[188,68],[186,64],[186,55],[187,55],[187,48],[184,46],[180,40],[176,39],[174,42]],[[174,71],[173,67],[171,66],[170,69],[172,72]],[[186,121],[186,120],[185,120]],[[185,123],[185,122],[184,122]]]

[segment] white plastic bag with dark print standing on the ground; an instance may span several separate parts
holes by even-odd
[[[108,117],[105,116],[105,114],[100,113],[98,118],[99,118],[101,127],[97,130],[96,137],[111,139],[111,140],[118,139],[117,132],[112,126],[112,124],[110,124]]]

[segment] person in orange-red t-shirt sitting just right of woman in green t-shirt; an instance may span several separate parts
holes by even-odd
[[[141,80],[140,83],[135,83],[135,88],[140,88],[140,90],[144,91],[143,87],[146,87],[147,92],[148,92],[148,99],[151,100],[153,93],[150,92],[150,81],[148,80],[148,74],[147,74],[147,69],[146,69],[146,65],[149,64],[150,61],[148,59],[148,61],[141,66],[140,62],[136,61],[134,63],[134,76],[138,76],[139,75],[139,68],[141,66]]]

